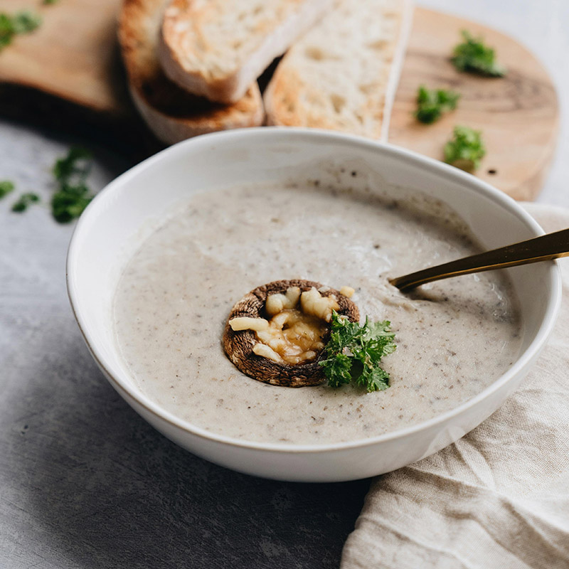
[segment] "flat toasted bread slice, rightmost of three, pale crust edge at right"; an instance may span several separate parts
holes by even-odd
[[[268,124],[386,140],[412,15],[408,0],[341,1],[282,58]]]

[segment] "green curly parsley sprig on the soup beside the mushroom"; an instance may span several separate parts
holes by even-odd
[[[367,318],[360,326],[334,311],[326,359],[320,362],[328,385],[339,387],[354,381],[368,391],[387,389],[389,374],[378,364],[383,356],[395,351],[395,334],[389,326],[387,320],[370,322]]]

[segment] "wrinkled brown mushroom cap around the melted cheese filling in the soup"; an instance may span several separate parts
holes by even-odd
[[[360,314],[356,304],[344,297],[337,290],[325,287],[320,282],[309,280],[277,280],[268,285],[262,285],[253,289],[238,301],[225,323],[223,331],[223,349],[228,358],[237,368],[258,381],[270,383],[271,385],[281,385],[283,387],[306,387],[308,385],[318,385],[326,377],[319,362],[325,359],[324,350],[319,353],[317,358],[307,363],[299,363],[295,366],[289,363],[277,363],[262,356],[257,356],[253,352],[253,346],[259,342],[255,331],[240,330],[233,331],[229,321],[233,318],[266,318],[270,319],[265,312],[265,302],[270,294],[287,292],[289,287],[299,287],[301,292],[310,290],[312,287],[319,290],[323,297],[334,294],[336,302],[339,304],[338,314],[348,317],[352,322],[358,322]],[[324,344],[329,339],[330,331],[324,336]]]

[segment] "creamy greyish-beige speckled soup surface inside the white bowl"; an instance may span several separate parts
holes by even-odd
[[[455,408],[519,353],[504,275],[487,272],[403,294],[388,276],[472,255],[467,227],[424,196],[400,201],[316,184],[199,193],[144,240],[115,296],[115,336],[139,388],[193,425],[229,437],[324,444],[380,435]],[[240,373],[223,326],[251,289],[280,279],[356,289],[362,317],[388,319],[390,388],[283,388]]]

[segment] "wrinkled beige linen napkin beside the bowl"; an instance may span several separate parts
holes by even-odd
[[[550,232],[569,210],[526,204]],[[376,478],[341,569],[569,568],[569,259],[535,368],[466,437]],[[539,294],[539,291],[536,291]]]

